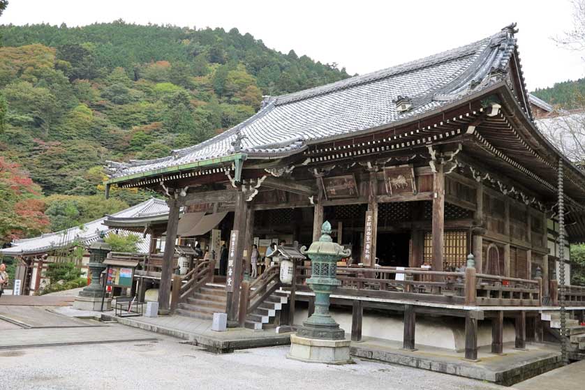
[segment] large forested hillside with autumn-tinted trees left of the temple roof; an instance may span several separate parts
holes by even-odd
[[[0,36],[0,156],[13,175],[32,179],[29,193],[52,228],[95,216],[89,204],[101,197],[105,160],[166,156],[250,117],[262,95],[348,77],[336,64],[276,52],[237,29],[117,21],[0,26]],[[119,203],[103,208],[145,196],[118,190]]]

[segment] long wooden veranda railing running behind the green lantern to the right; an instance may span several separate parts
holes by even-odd
[[[306,279],[311,267],[297,267],[297,291],[310,291]],[[397,278],[397,275],[403,275]],[[429,271],[420,268],[338,267],[341,280],[334,294],[353,297],[404,299],[466,306],[540,306],[542,280],[505,278],[465,272]],[[399,280],[397,280],[399,279]],[[585,293],[585,291],[584,291]]]

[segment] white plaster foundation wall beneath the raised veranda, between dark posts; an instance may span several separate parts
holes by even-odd
[[[308,310],[299,308],[295,312],[295,323],[301,324],[307,318]],[[339,326],[351,332],[351,310],[332,308],[332,316]],[[480,321],[477,327],[477,346],[491,345],[491,322]],[[402,343],[404,324],[402,315],[382,315],[364,311],[362,321],[362,336],[385,338]],[[504,343],[514,341],[516,337],[514,326],[504,322]],[[431,317],[417,314],[415,343],[430,347],[445,348],[447,350],[465,350],[465,321],[455,317]]]

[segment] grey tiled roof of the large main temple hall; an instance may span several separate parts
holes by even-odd
[[[230,156],[237,135],[248,158],[279,158],[308,144],[343,137],[417,116],[461,100],[496,82],[516,49],[514,26],[475,43],[367,75],[288,95],[267,98],[253,117],[193,147],[156,160],[110,162],[110,179]],[[397,110],[406,96],[412,107]]]

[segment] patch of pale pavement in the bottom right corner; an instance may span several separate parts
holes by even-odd
[[[582,360],[514,384],[513,388],[521,390],[575,390],[583,389],[584,384],[585,360]]]

